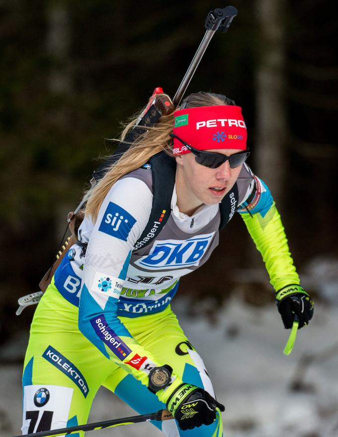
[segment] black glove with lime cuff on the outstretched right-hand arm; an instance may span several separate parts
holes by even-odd
[[[292,328],[295,316],[299,320],[298,329],[307,326],[312,319],[314,303],[300,285],[292,284],[278,290],[276,305],[286,329]]]

